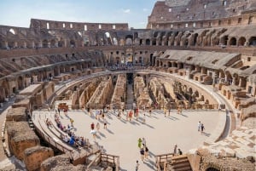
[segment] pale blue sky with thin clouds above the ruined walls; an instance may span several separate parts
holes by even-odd
[[[156,0],[0,0],[0,25],[29,27],[30,19],[122,22],[145,28]]]

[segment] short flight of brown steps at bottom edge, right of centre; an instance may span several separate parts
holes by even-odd
[[[172,157],[172,162],[166,163],[168,171],[192,171],[187,155]]]

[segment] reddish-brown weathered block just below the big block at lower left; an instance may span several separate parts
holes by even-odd
[[[27,148],[24,151],[24,162],[27,170],[38,170],[41,163],[49,157],[54,156],[54,151],[51,148],[44,146],[34,146]]]

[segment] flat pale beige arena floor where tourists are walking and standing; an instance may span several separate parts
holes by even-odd
[[[52,114],[54,111],[51,111]],[[183,153],[197,148],[211,136],[217,127],[219,116],[224,112],[218,111],[171,111],[170,117],[165,117],[163,111],[152,111],[152,116],[146,112],[146,123],[143,123],[143,113],[140,113],[138,121],[133,118],[126,121],[125,115],[119,120],[113,111],[107,115],[108,128],[103,128],[102,119],[100,131],[96,139],[90,134],[90,123],[97,123],[94,115],[89,116],[84,111],[68,111],[67,116],[61,111],[61,123],[67,126],[70,118],[74,120],[74,133],[88,138],[90,142],[96,141],[103,145],[108,154],[120,157],[121,170],[131,171],[135,169],[136,161],[140,163],[140,171],[154,170],[154,155],[172,153],[174,145]],[[205,134],[197,130],[197,123],[201,121],[205,125]],[[149,158],[144,162],[141,160],[137,140],[145,138],[149,149]]]

